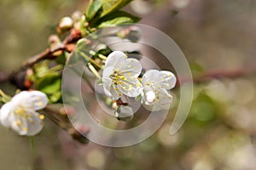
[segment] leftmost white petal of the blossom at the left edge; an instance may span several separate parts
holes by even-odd
[[[11,102],[4,104],[0,110],[0,122],[4,127],[9,127],[9,116],[14,111],[14,105]]]

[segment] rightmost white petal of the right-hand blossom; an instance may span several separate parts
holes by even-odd
[[[171,71],[160,71],[163,73],[163,76],[161,76],[161,86],[163,86],[166,89],[171,89],[175,87],[176,84],[176,77]]]

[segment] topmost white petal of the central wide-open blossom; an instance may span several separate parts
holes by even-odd
[[[117,68],[120,63],[125,63],[125,54],[120,51],[113,51],[111,54],[108,55],[108,59],[105,63],[105,68],[109,66],[113,66],[114,68]]]

